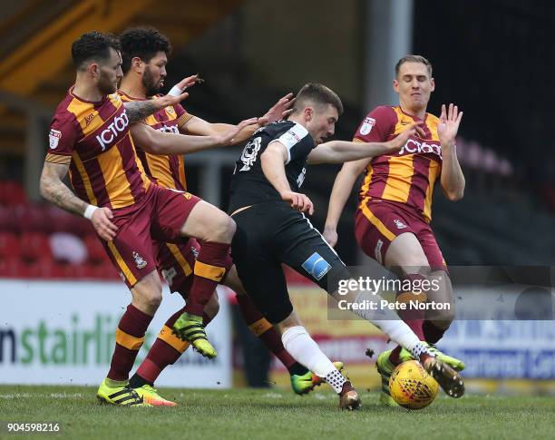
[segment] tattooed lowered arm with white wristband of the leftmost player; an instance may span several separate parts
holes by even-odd
[[[102,239],[112,240],[117,231],[116,225],[111,221],[112,210],[92,207],[73,194],[73,191],[63,183],[67,171],[69,171],[69,165],[45,161],[40,183],[41,195],[57,207],[79,216],[85,215],[86,210],[91,210],[90,220],[94,230]]]

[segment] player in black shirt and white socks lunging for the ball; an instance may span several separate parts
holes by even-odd
[[[420,133],[416,124],[389,142],[360,143],[325,139],[334,134],[343,112],[339,97],[326,86],[306,84],[297,94],[287,121],[269,124],[255,132],[245,146],[231,181],[229,213],[237,224],[232,257],[248,295],[277,325],[287,351],[300,364],[326,378],[340,397],[340,407],[355,409],[360,398],[355,388],[308,335],[289,300],[285,263],[313,280],[337,300],[344,300],[361,318],[375,324],[408,349],[436,378],[450,396],[463,396],[463,380],[451,367],[438,361],[413,331],[393,312],[366,309],[369,292],[338,292],[351,279],[345,263],[324,240],[305,213],[314,207],[299,192],[307,164],[342,163],[399,151],[409,136]],[[385,312],[385,315],[384,315]]]

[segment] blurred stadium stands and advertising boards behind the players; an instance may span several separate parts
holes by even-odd
[[[112,349],[110,326],[129,298],[90,225],[38,195],[48,123],[73,83],[69,48],[92,29],[117,34],[150,24],[167,34],[174,54],[166,83],[199,72],[206,83],[184,105],[210,122],[239,122],[303,83],[326,83],[346,106],[338,139],[352,137],[376,104],[395,102],[395,61],[423,54],[436,79],[429,111],[450,102],[464,111],[458,152],[465,197],[451,203],[436,191],[434,200],[433,228],[445,259],[453,265],[542,266],[550,274],[550,2],[136,0],[122,7],[110,0],[27,0],[2,7],[0,383],[96,384],[108,364],[103,350]],[[186,158],[191,191],[225,208],[238,153],[228,148]],[[307,175],[304,188],[315,202],[318,228],[337,170],[313,167]],[[356,250],[354,212],[355,193],[342,218],[338,251],[347,263],[360,264],[365,259]],[[356,384],[375,386],[373,361],[364,351],[377,352],[385,339],[358,322],[326,321],[326,297],[299,280],[291,277],[307,328],[330,357],[346,361]],[[161,318],[171,312],[164,310]],[[210,330],[229,347],[218,365],[188,354],[164,379],[168,385],[244,383],[239,373],[231,375],[231,365],[240,365],[231,349],[231,315],[224,307]],[[151,332],[158,328],[153,323]],[[553,392],[554,339],[552,320],[460,321],[442,347],[472,359],[466,377],[475,391]],[[210,368],[213,375],[200,379]],[[275,368],[271,381],[285,383],[283,372]]]

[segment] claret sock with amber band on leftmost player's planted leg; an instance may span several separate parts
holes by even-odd
[[[137,353],[144,342],[144,334],[151,323],[151,315],[129,305],[116,331],[116,345],[108,377],[112,380],[127,380]]]

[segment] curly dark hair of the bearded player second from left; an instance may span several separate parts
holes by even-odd
[[[168,37],[153,27],[132,27],[120,35],[122,44],[122,71],[128,73],[131,60],[137,56],[145,63],[159,52],[171,54],[171,44]]]

